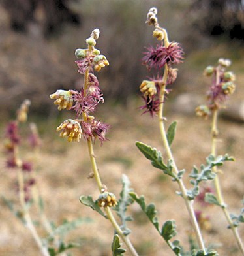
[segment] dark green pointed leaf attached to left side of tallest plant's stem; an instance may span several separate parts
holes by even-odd
[[[172,160],[169,160],[168,164],[166,165],[163,162],[161,152],[156,148],[152,148],[151,146],[148,146],[147,144],[144,144],[142,142],[136,142],[136,146],[140,150],[140,152],[144,154],[145,158],[151,160],[151,165],[153,165],[153,167],[163,170],[164,174],[172,176],[173,178],[175,178],[175,180],[178,179],[177,176],[172,172]]]

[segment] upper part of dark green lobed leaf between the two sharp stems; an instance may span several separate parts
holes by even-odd
[[[145,204],[145,199],[144,196],[138,197],[136,193],[130,192],[129,193],[130,197],[134,199],[142,208],[142,211],[147,215],[151,223],[153,223],[154,227],[157,229],[157,231],[160,232],[159,230],[159,221],[157,219],[157,211],[155,209],[155,204],[149,204],[148,206]]]

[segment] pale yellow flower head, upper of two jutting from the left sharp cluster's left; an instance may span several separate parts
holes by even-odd
[[[54,104],[57,105],[58,110],[72,108],[73,100],[71,91],[65,91],[63,89],[58,89],[55,93],[50,95],[50,99],[55,99]]]

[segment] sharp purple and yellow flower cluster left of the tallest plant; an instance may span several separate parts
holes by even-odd
[[[60,136],[67,136],[69,142],[79,142],[82,137],[85,140],[91,139],[93,142],[96,139],[99,139],[101,143],[106,140],[105,135],[109,125],[90,116],[95,112],[97,105],[104,102],[99,80],[93,73],[93,69],[99,72],[103,67],[109,65],[106,57],[95,48],[99,34],[99,29],[94,29],[90,37],[85,40],[87,48],[79,48],[75,51],[75,56],[78,59],[75,61],[78,72],[85,75],[84,85],[80,91],[59,89],[50,95],[51,99],[55,99],[54,104],[58,106],[59,110],[67,109],[76,112],[75,120],[66,120],[57,127],[57,131],[61,131]],[[79,117],[82,119],[78,119]]]

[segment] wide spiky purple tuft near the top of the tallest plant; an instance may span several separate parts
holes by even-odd
[[[148,52],[144,53],[142,64],[147,66],[147,69],[162,69],[165,64],[172,65],[183,62],[183,50],[177,42],[171,42],[168,47],[162,44],[157,44],[156,48],[149,46]]]

